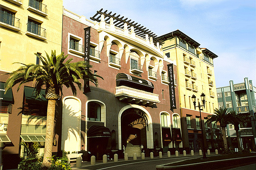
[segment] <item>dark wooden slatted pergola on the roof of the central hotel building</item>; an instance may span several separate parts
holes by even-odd
[[[153,38],[154,43],[159,42],[157,39],[155,39],[155,37],[157,37],[157,35],[155,35],[152,31],[150,31],[146,27],[141,26],[141,24],[138,24],[137,22],[134,23],[134,21],[131,22],[132,20],[128,19],[128,18],[123,19],[124,17],[120,17],[120,14],[117,15],[117,16],[115,16],[116,13],[111,15],[112,11],[107,13],[108,10],[105,10],[104,12],[102,12],[102,10],[103,9],[97,11],[97,13],[93,17],[90,17],[90,19],[93,20],[93,21],[101,22],[101,14],[103,14],[105,16],[105,22],[106,23],[110,23],[110,18],[112,17],[113,21],[114,21],[114,26],[117,26],[117,27],[123,29],[124,28],[124,23],[127,23],[129,31],[131,31],[131,26],[133,26],[134,27],[134,32],[135,32],[136,35],[145,39],[146,34],[147,34],[149,37]]]

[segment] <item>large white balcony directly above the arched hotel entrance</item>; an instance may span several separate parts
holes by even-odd
[[[152,106],[156,103],[160,103],[158,94],[151,92],[145,92],[142,90],[134,89],[127,86],[115,87],[115,96],[119,97],[119,100],[127,99],[129,103],[142,104]]]

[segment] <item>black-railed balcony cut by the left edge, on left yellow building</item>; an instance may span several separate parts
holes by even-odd
[[[13,31],[20,31],[20,20],[16,17],[8,15],[8,13],[0,12],[0,26]]]

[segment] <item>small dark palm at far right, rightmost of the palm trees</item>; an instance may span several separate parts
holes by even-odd
[[[236,131],[236,135],[237,135],[237,141],[238,141],[238,151],[239,152],[242,151],[241,144],[240,144],[239,125],[241,123],[244,123],[244,122],[245,122],[245,119],[244,119],[242,113],[236,114],[236,112],[234,110],[230,111],[229,123],[233,124],[234,127],[235,127],[235,131]]]

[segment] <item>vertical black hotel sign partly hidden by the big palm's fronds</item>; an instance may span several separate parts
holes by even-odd
[[[91,26],[84,28],[84,61],[90,64]],[[91,92],[89,80],[84,80],[84,92]]]

